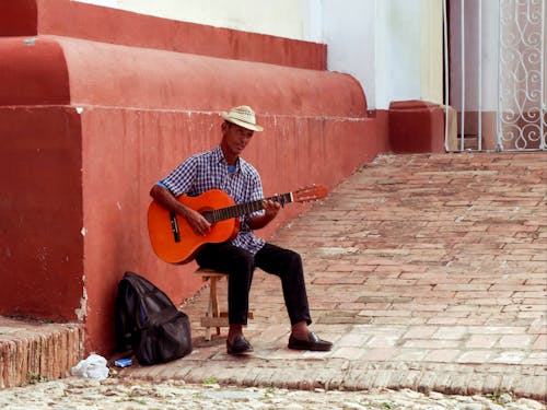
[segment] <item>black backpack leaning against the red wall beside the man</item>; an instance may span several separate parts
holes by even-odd
[[[190,321],[147,279],[126,272],[115,302],[116,351],[140,364],[165,363],[191,352]]]

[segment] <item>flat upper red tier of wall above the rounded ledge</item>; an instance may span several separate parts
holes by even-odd
[[[177,22],[70,0],[0,1],[0,36],[59,35],[326,70],[326,45]]]

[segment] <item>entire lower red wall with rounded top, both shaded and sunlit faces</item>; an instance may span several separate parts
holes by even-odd
[[[37,1],[37,20],[51,15],[46,4],[63,2]],[[116,27],[108,9],[83,10],[91,17],[97,9]],[[110,34],[114,42],[117,30]],[[247,35],[235,43],[268,54],[264,36]],[[0,58],[9,61],[0,66],[0,138],[9,147],[0,152],[9,187],[0,218],[10,220],[0,231],[0,314],[80,319],[86,352],[113,348],[114,295],[126,270],[176,303],[201,285],[194,263],[153,255],[146,212],[155,180],[218,144],[220,110],[256,109],[266,130],[244,156],[266,195],[334,187],[387,150],[386,114],[366,118],[360,85],[340,73],[49,35],[34,44],[0,38]],[[261,234],[306,207],[286,208]]]

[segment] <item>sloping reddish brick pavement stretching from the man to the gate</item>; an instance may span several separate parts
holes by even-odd
[[[225,335],[203,341],[203,291],[183,306],[194,354],[123,374],[545,400],[546,181],[545,153],[380,156],[271,238],[301,253],[331,352],[287,349],[279,281],[257,271],[254,354],[226,355]]]

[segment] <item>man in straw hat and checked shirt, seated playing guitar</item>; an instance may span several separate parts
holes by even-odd
[[[220,145],[188,157],[150,191],[152,198],[165,209],[184,216],[198,235],[207,235],[211,224],[175,197],[183,194],[198,196],[217,188],[229,194],[236,203],[264,198],[258,172],[241,157],[254,132],[263,131],[263,127],[256,124],[255,113],[248,106],[232,108],[230,113],[222,113],[221,116],[224,122],[221,126]],[[271,200],[264,200],[263,208],[261,211],[241,218],[240,232],[235,238],[221,244],[207,244],[196,254],[196,261],[201,267],[229,273],[228,353],[242,354],[253,351],[253,347],[243,336],[243,326],[247,324],[248,293],[255,268],[281,279],[292,326],[289,349],[328,351],[333,344],[319,339],[309,329],[312,319],[300,255],[266,243],[253,232],[271,222],[281,206]]]

